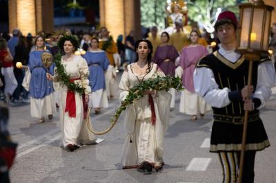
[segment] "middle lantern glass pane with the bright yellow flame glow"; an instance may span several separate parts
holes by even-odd
[[[263,35],[264,9],[254,8],[253,25],[250,32],[250,48],[262,50],[261,41]]]

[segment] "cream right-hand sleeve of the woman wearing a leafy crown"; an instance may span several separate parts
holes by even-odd
[[[91,88],[89,86],[89,80],[88,80],[89,69],[88,69],[86,60],[81,56],[79,56],[79,74],[81,77],[81,86],[85,89],[84,92],[86,94],[90,94]]]

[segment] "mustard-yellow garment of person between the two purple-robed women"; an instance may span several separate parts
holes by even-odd
[[[175,46],[177,52],[181,52],[183,47],[188,45],[188,38],[184,32],[174,32],[170,36],[170,44]]]

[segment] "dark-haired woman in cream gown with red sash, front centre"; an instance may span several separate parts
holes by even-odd
[[[152,45],[148,40],[135,43],[137,60],[128,65],[121,77],[120,100],[137,83],[157,76],[165,76],[157,64],[150,63]],[[139,168],[151,172],[164,165],[164,134],[168,127],[171,95],[166,91],[147,91],[126,108],[124,119],[126,140],[122,154],[123,169]]]

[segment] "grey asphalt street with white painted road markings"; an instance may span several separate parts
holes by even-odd
[[[103,142],[68,152],[60,147],[58,113],[52,121],[37,123],[37,119],[30,117],[30,105],[13,105],[9,129],[19,147],[10,171],[11,182],[221,182],[217,154],[208,151],[212,113],[191,121],[190,116],[179,113],[179,94],[176,98],[176,108],[170,113],[170,126],[165,135],[166,165],[151,174],[121,169],[124,116],[109,133],[95,136],[103,138]],[[119,101],[113,99],[101,114],[92,114],[97,131],[110,125],[110,117],[117,107]],[[271,146],[257,153],[255,182],[276,182],[275,110],[276,94],[273,94],[261,111]]]

